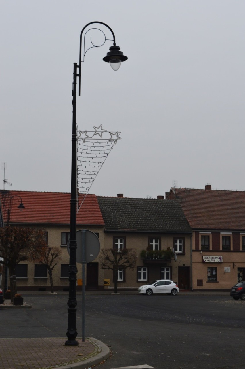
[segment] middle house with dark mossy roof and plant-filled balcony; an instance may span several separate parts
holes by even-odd
[[[104,247],[136,250],[135,270],[119,269],[118,288],[137,289],[155,279],[172,279],[180,289],[190,288],[191,229],[178,201],[97,197],[104,227]],[[174,261],[173,250],[177,254]],[[113,272],[105,270],[113,288]]]

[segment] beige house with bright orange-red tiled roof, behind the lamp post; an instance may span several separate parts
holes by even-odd
[[[79,195],[78,203],[84,199]],[[19,204],[24,205],[20,211]],[[61,259],[53,269],[55,290],[68,290],[69,254],[67,241],[70,232],[70,193],[0,190],[3,224],[41,228],[48,246],[58,246]],[[95,195],[87,195],[77,214],[77,230],[87,229],[99,237],[104,248],[104,221]],[[79,252],[79,249],[77,250]],[[82,266],[77,264],[78,289],[81,288]],[[21,290],[50,290],[49,276],[44,265],[21,262],[16,268],[17,288]],[[2,285],[3,285],[2,281]],[[104,288],[104,272],[98,258],[86,266],[87,289]]]

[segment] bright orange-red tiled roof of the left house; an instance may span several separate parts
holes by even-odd
[[[14,196],[14,197],[13,197]],[[18,208],[21,200],[24,209]],[[79,195],[79,204],[85,195]],[[0,190],[0,204],[4,223],[10,208],[10,223],[70,224],[70,193]],[[77,224],[104,225],[97,197],[88,194],[77,214]]]

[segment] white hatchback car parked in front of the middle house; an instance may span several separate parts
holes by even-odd
[[[158,279],[154,280],[153,283],[144,284],[144,286],[139,287],[138,292],[146,295],[152,295],[153,293],[167,293],[167,295],[175,296],[179,292],[179,287],[172,280]]]

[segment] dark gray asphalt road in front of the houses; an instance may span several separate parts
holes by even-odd
[[[77,296],[81,337],[81,295]],[[1,338],[64,337],[67,296],[25,296],[32,309],[2,309]],[[111,347],[98,368],[245,369],[245,302],[230,296],[86,296],[85,335]],[[4,327],[4,329],[3,329]]]

